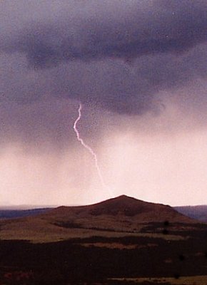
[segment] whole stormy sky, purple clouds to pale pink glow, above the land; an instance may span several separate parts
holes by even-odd
[[[1,1],[0,27],[0,205],[207,204],[206,0]]]

